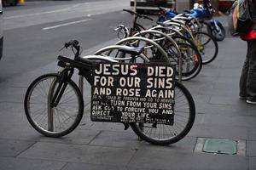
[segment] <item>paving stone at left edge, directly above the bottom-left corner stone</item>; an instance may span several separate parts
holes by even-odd
[[[0,139],[0,156],[15,157],[28,149],[34,142],[25,140]]]

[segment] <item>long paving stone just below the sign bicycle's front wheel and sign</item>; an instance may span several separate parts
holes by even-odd
[[[125,166],[135,152],[136,150],[114,147],[38,142],[18,157]]]

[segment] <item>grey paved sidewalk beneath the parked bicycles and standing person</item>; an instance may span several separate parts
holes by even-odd
[[[98,48],[87,51],[92,54]],[[37,133],[26,120],[24,95],[35,77],[56,70],[55,62],[3,82],[0,84],[0,169],[256,169],[256,105],[238,99],[245,54],[245,42],[226,38],[219,42],[217,59],[204,65],[198,77],[184,82],[195,99],[195,124],[189,135],[169,146],[138,141],[131,129],[123,130],[123,125],[90,122],[87,93],[84,94],[85,116],[73,133],[61,139]],[[201,138],[244,141],[246,155],[198,152],[195,145]]]

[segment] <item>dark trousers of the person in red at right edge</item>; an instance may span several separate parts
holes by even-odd
[[[256,101],[256,39],[247,41],[247,58],[241,71],[239,95]]]

